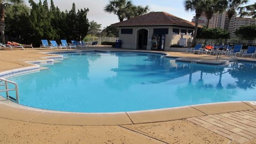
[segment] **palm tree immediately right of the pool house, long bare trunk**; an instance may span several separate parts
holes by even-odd
[[[195,11],[196,17],[195,17],[195,32],[193,36],[193,42],[192,46],[195,46],[196,44],[196,35],[197,35],[197,27],[198,27],[198,19],[201,16],[201,14],[205,11],[206,7],[206,1],[205,0],[186,0],[184,2],[185,10],[186,11]]]

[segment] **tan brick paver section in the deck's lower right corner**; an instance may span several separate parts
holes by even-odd
[[[240,143],[256,138],[256,110],[192,117],[187,120]]]

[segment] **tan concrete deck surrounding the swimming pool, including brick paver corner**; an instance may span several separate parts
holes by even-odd
[[[111,47],[84,50],[129,51]],[[49,56],[41,53],[46,51],[55,50],[1,50],[0,73],[31,66],[25,61],[43,60],[42,57]],[[218,64],[229,60],[228,57],[221,57],[216,61],[216,56],[205,54],[165,53],[182,57],[183,61]],[[149,111],[82,114],[28,108],[2,98],[0,143],[256,143],[254,104],[241,101]]]

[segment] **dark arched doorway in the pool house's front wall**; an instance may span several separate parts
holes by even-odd
[[[137,49],[147,50],[148,45],[148,30],[140,29],[137,31]]]

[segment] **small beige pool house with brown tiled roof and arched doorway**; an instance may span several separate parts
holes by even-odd
[[[150,12],[113,26],[119,28],[120,48],[141,50],[169,50],[181,42],[187,46],[195,29],[195,23],[166,12]]]

